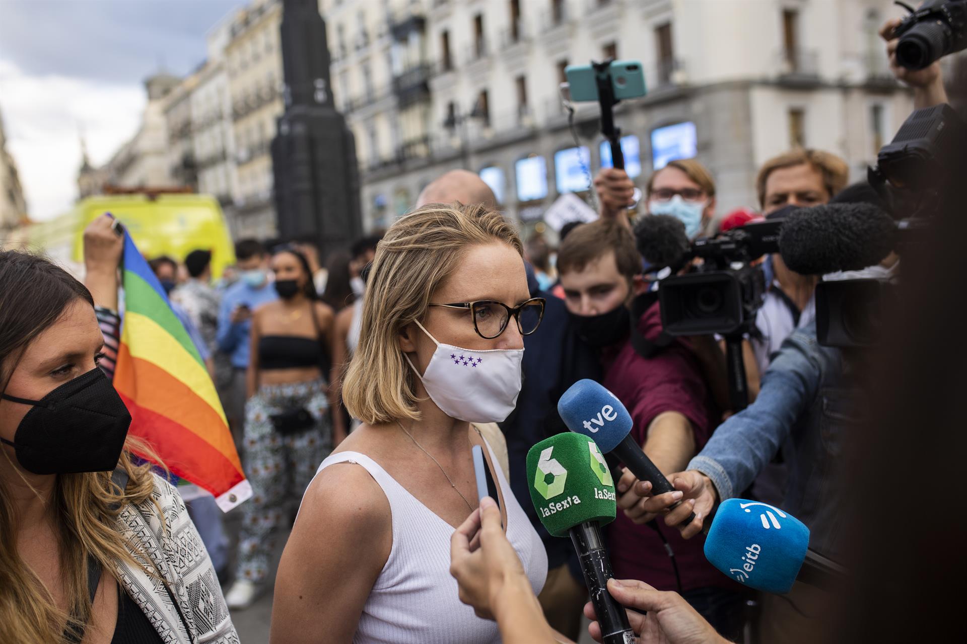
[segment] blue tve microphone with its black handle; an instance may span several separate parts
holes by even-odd
[[[613,452],[639,481],[651,483],[654,494],[675,491],[631,437],[632,423],[628,409],[601,384],[587,378],[578,380],[557,402],[557,412],[571,432],[593,439],[601,452]],[[668,510],[674,510],[681,503],[676,501]],[[691,513],[682,525],[688,525],[694,518],[695,513]]]

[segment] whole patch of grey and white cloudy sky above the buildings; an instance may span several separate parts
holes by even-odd
[[[185,74],[205,34],[243,0],[0,0],[0,113],[30,216],[77,194],[79,132],[95,164],[131,138],[142,81]]]

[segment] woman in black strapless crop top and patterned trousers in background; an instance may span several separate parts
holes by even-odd
[[[231,608],[248,606],[269,572],[285,502],[301,499],[333,447],[329,417],[329,348],[333,309],[319,301],[306,256],[283,245],[272,254],[278,300],[251,319],[245,469],[254,492],[243,504]]]

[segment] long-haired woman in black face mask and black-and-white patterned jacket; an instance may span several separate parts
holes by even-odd
[[[17,251],[0,285],[0,642],[237,643],[181,496],[132,461],[90,292]]]

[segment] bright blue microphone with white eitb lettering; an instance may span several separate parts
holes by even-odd
[[[730,498],[718,506],[705,539],[705,558],[736,581],[767,593],[788,593],[797,581],[830,588],[842,567],[808,549],[809,528],[759,501]]]

